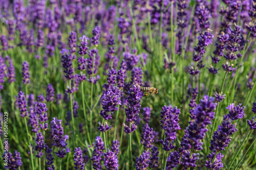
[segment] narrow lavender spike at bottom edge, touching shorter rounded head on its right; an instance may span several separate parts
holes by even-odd
[[[91,158],[91,160],[93,161],[94,169],[102,169],[102,166],[100,165],[100,160],[103,150],[105,149],[104,142],[102,141],[100,136],[97,136],[95,140],[95,148],[93,150],[93,157]]]

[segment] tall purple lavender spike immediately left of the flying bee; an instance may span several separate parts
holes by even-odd
[[[128,126],[124,126],[124,132],[130,134],[137,129],[137,126],[133,124],[136,121],[136,116],[140,111],[140,101],[142,98],[142,92],[140,91],[140,85],[135,84],[128,91],[129,96],[127,96],[128,108],[125,108],[125,115],[127,117],[127,121],[132,123],[131,128]]]

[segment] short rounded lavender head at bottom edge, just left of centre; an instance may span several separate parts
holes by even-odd
[[[117,155],[107,149],[106,153],[103,153],[104,166],[108,170],[117,170],[118,169],[118,157]]]

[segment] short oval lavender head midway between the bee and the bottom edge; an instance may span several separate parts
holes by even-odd
[[[140,143],[143,144],[147,150],[153,147],[153,142],[155,137],[154,134],[155,134],[155,131],[153,131],[153,128],[150,128],[148,124],[145,124],[142,132],[140,133],[141,135]]]

